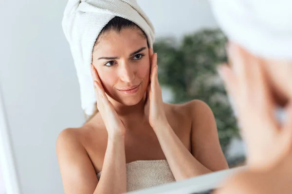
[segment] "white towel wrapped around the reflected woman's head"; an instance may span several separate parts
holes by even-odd
[[[90,70],[92,49],[101,30],[115,16],[138,25],[152,47],[154,27],[136,0],[68,0],[64,11],[62,27],[77,71],[81,106],[88,115],[93,113],[96,102]]]

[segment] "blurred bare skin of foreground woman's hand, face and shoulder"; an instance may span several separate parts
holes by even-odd
[[[235,99],[248,168],[224,181],[216,194],[290,194],[292,191],[292,63],[261,59],[231,43],[230,65],[219,68]],[[274,116],[282,106],[287,118]]]

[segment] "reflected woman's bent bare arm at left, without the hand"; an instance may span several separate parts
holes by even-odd
[[[57,158],[65,194],[117,194],[127,190],[125,143],[121,136],[110,137],[102,176],[96,172],[85,148],[73,131],[62,131],[56,143]]]

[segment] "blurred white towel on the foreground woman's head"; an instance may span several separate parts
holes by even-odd
[[[292,0],[210,0],[222,31],[251,53],[292,60]]]

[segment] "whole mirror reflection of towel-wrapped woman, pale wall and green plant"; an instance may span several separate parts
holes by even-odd
[[[0,70],[21,193],[125,193],[245,164],[208,1],[23,6]]]

